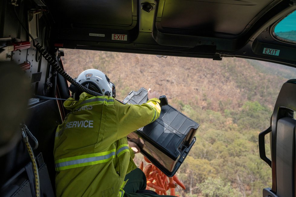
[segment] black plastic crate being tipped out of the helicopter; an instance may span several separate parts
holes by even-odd
[[[148,100],[145,88],[132,91],[123,100],[129,104],[143,104]],[[167,176],[173,176],[195,143],[199,124],[171,105],[161,107],[156,121],[139,128],[127,137],[134,141],[156,167]]]

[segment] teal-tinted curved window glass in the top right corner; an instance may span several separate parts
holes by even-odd
[[[296,43],[296,11],[275,26],[274,34],[280,40]]]

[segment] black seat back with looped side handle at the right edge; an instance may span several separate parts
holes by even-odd
[[[263,197],[295,196],[295,124],[296,79],[285,82],[278,94],[271,126],[259,134],[259,153],[272,169],[272,188],[263,189]],[[271,160],[265,154],[266,134],[271,132]]]

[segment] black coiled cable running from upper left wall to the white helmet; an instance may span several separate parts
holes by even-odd
[[[92,91],[90,89],[87,89],[86,87],[82,86],[80,83],[76,82],[71,76],[69,76],[59,65],[58,63],[51,57],[51,55],[45,51],[45,49],[43,49],[41,47],[41,45],[39,43],[35,43],[35,40],[33,38],[33,36],[30,34],[30,32],[27,30],[27,28],[24,26],[24,24],[21,22],[21,20],[18,18],[18,14],[16,13],[15,7],[14,7],[14,12],[15,12],[15,16],[18,19],[19,23],[21,24],[21,26],[25,29],[25,31],[27,32],[27,34],[31,37],[31,39],[33,40],[33,46],[36,47],[36,49],[39,51],[39,53],[41,53],[41,55],[45,58],[46,61],[48,61],[48,63],[54,67],[54,69],[61,75],[63,76],[68,82],[70,82],[71,84],[73,84],[74,86],[76,86],[78,89],[80,89],[83,92],[86,92],[87,94],[93,95],[93,96],[103,96],[102,94]]]

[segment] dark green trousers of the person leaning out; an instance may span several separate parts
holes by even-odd
[[[124,197],[169,197],[171,195],[157,195],[152,190],[146,190],[146,176],[140,168],[136,168],[125,176],[127,184],[124,186]]]

